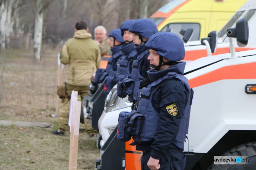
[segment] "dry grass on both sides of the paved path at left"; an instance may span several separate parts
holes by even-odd
[[[3,54],[0,53],[0,78],[3,73],[0,119],[51,122],[53,129],[56,129],[57,118],[50,116],[55,114],[56,51],[45,54],[40,62],[35,62],[32,51],[6,50],[2,72],[3,61]],[[99,158],[96,138],[89,138],[84,132],[84,125],[80,127],[77,169],[94,169],[95,159]],[[69,133],[59,137],[50,134],[50,131],[0,126],[0,170],[68,169]]]

